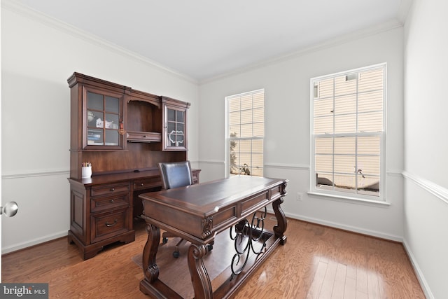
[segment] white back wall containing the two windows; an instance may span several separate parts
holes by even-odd
[[[202,179],[225,174],[225,96],[265,88],[265,176],[289,179],[287,216],[402,241],[403,234],[403,30],[339,39],[262,67],[200,85]],[[310,165],[309,80],[315,76],[386,62],[388,67],[386,199],[360,204],[307,195]],[[303,200],[296,201],[296,193]]]

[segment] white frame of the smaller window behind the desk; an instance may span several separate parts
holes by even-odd
[[[235,99],[235,97],[244,97],[246,95],[255,95],[257,93],[262,92],[263,94],[263,134],[262,136],[251,136],[251,137],[230,137],[230,108],[229,108],[229,102],[230,99]],[[253,106],[252,106],[253,110]],[[230,172],[231,162],[230,162],[230,142],[233,140],[237,141],[245,141],[245,140],[261,140],[262,141],[262,176],[265,174],[265,89],[260,88],[258,90],[251,90],[248,92],[241,92],[235,95],[229,95],[225,97],[225,176],[229,177],[231,175],[238,175],[238,174],[232,174]],[[253,154],[253,150],[251,150],[251,157]],[[252,165],[250,165],[252,167]],[[253,175],[253,172],[250,174]],[[258,175],[255,175],[258,176]]]

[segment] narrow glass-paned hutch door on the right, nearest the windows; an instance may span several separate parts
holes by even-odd
[[[164,104],[165,133],[163,134],[164,151],[187,150],[186,109]]]

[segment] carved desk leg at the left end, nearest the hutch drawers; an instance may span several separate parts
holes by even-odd
[[[143,272],[145,279],[140,281],[140,290],[146,294],[145,285],[151,284],[159,277],[159,267],[155,263],[155,255],[159,247],[160,241],[160,228],[146,223],[146,232],[148,233],[148,240],[146,241],[143,249]]]

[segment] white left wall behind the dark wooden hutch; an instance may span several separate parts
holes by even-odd
[[[2,253],[69,230],[69,85],[73,71],[190,102],[188,158],[197,166],[197,82],[1,1]]]

